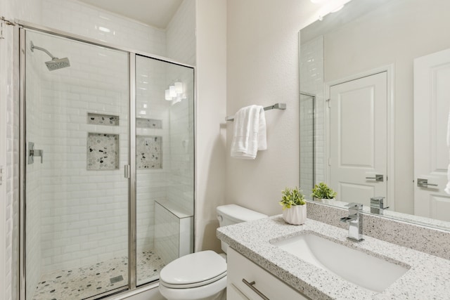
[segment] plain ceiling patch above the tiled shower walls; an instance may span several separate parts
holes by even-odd
[[[183,0],[79,0],[105,11],[138,20],[147,25],[167,27]]]

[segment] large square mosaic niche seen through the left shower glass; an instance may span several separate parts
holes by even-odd
[[[119,169],[119,135],[109,133],[88,133],[87,169]]]

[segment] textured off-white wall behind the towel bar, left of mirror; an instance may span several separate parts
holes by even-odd
[[[227,115],[251,104],[287,110],[266,112],[267,150],[255,160],[230,157],[226,124],[226,202],[280,214],[281,190],[299,185],[297,34],[310,16],[306,1],[228,1]]]

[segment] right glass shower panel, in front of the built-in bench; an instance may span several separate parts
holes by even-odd
[[[193,68],[136,56],[136,282],[193,252]]]

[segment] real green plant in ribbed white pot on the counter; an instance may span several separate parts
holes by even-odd
[[[304,224],[307,219],[307,202],[299,188],[285,188],[281,191],[280,204],[283,207],[283,219],[293,225]]]

